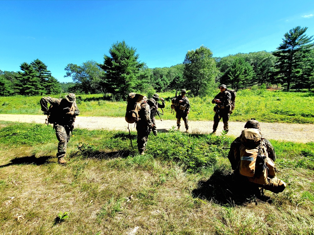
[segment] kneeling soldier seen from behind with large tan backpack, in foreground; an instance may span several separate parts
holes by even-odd
[[[230,146],[228,159],[234,175],[239,180],[246,180],[263,189],[280,193],[286,183],[276,176],[276,154],[273,145],[260,130],[259,122],[246,122],[241,135]]]

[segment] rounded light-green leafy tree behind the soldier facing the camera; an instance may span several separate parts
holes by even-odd
[[[183,61],[185,87],[194,96],[204,96],[214,86],[218,74],[213,53],[206,46],[188,51]]]

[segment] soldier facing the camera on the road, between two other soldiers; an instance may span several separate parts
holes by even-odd
[[[190,113],[190,102],[189,102],[189,99],[185,96],[186,93],[187,93],[187,90],[182,89],[181,94],[178,97],[176,97],[175,110],[176,110],[178,130],[180,130],[181,118],[182,118],[185,124],[186,132],[189,133],[187,115]]]

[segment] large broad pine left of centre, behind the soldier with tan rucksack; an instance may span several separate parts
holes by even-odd
[[[144,63],[138,61],[136,49],[125,41],[116,42],[109,49],[110,55],[104,55],[104,63],[100,67],[105,71],[108,91],[114,99],[126,99],[127,94],[136,88],[136,80]]]

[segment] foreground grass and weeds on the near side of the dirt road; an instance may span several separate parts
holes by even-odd
[[[0,122],[0,234],[313,234],[314,143],[271,140],[288,186],[255,202],[230,178],[233,137],[170,130],[143,156],[127,137],[76,129],[62,166],[50,126]]]

